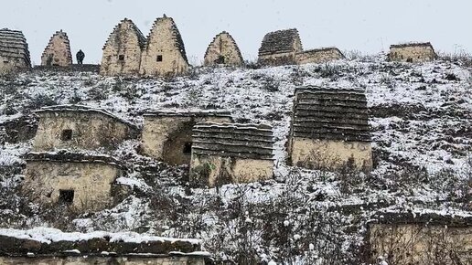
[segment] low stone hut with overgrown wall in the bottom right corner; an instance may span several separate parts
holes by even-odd
[[[368,229],[370,261],[388,264],[472,264],[472,217],[381,213]]]

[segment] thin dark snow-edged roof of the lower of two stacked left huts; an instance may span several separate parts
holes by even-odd
[[[83,154],[83,153],[70,153],[65,150],[59,152],[30,152],[25,156],[27,161],[48,161],[48,162],[59,162],[59,163],[97,163],[97,164],[113,164],[119,168],[124,168],[124,165],[109,155],[103,154]]]

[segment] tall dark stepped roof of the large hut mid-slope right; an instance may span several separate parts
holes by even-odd
[[[363,90],[295,89],[293,137],[370,142],[368,119]]]

